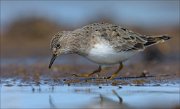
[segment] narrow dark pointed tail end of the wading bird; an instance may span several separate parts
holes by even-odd
[[[158,35],[158,36],[141,36],[144,40],[147,42],[144,43],[144,46],[151,46],[157,43],[164,42],[166,40],[169,40],[171,37],[168,35]]]

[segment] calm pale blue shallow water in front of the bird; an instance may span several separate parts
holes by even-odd
[[[166,107],[180,105],[178,86],[12,86],[1,85],[1,108],[97,108],[104,103],[118,104],[116,91],[129,107]],[[107,100],[106,100],[107,99]],[[110,106],[110,105],[109,105]],[[112,105],[115,106],[114,104]]]

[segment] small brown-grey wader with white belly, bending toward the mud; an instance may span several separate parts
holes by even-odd
[[[113,79],[123,68],[122,62],[148,46],[170,39],[167,35],[145,36],[118,25],[94,23],[74,31],[62,31],[54,35],[51,41],[51,68],[57,56],[75,53],[97,63],[99,68],[92,73],[74,74],[89,77],[101,71],[102,65],[119,64]]]

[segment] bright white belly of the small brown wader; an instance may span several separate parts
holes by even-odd
[[[116,52],[109,44],[99,43],[94,46],[87,56],[88,59],[98,64],[117,64],[122,62],[135,52]]]

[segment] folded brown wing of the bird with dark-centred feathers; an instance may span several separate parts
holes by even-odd
[[[116,51],[143,50],[147,41],[140,34],[113,24],[95,25],[91,36],[107,40]]]

